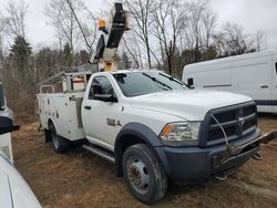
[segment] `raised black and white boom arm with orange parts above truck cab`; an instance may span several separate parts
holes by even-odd
[[[101,35],[90,63],[93,71],[112,71],[115,67],[115,55],[123,33],[127,30],[126,12],[122,3],[115,3],[111,23],[100,20]]]

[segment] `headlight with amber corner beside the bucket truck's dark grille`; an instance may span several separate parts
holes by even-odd
[[[198,139],[201,122],[182,122],[167,124],[160,134],[164,142],[195,143]]]

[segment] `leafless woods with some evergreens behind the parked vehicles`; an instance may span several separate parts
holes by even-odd
[[[184,65],[266,49],[266,34],[218,23],[208,1],[122,0],[129,30],[119,49],[119,69],[158,69],[181,79]],[[113,6],[111,4],[110,8]],[[55,29],[55,46],[34,49],[27,37],[29,4],[10,0],[0,13],[0,77],[17,114],[34,115],[37,83],[61,71],[85,66],[95,50],[98,20],[82,0],[50,0],[44,8]],[[43,22],[44,23],[44,22]]]

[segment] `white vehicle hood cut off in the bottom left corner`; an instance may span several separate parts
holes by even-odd
[[[0,153],[0,207],[41,207],[17,169]]]

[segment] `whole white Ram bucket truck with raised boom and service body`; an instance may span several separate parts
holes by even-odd
[[[133,196],[146,204],[165,195],[168,180],[224,180],[249,158],[259,159],[259,144],[276,133],[260,136],[250,97],[191,90],[155,70],[110,71],[126,29],[122,4],[115,8],[91,61],[102,60],[104,71],[62,73],[40,84],[39,117],[54,150],[81,143],[114,163]]]

